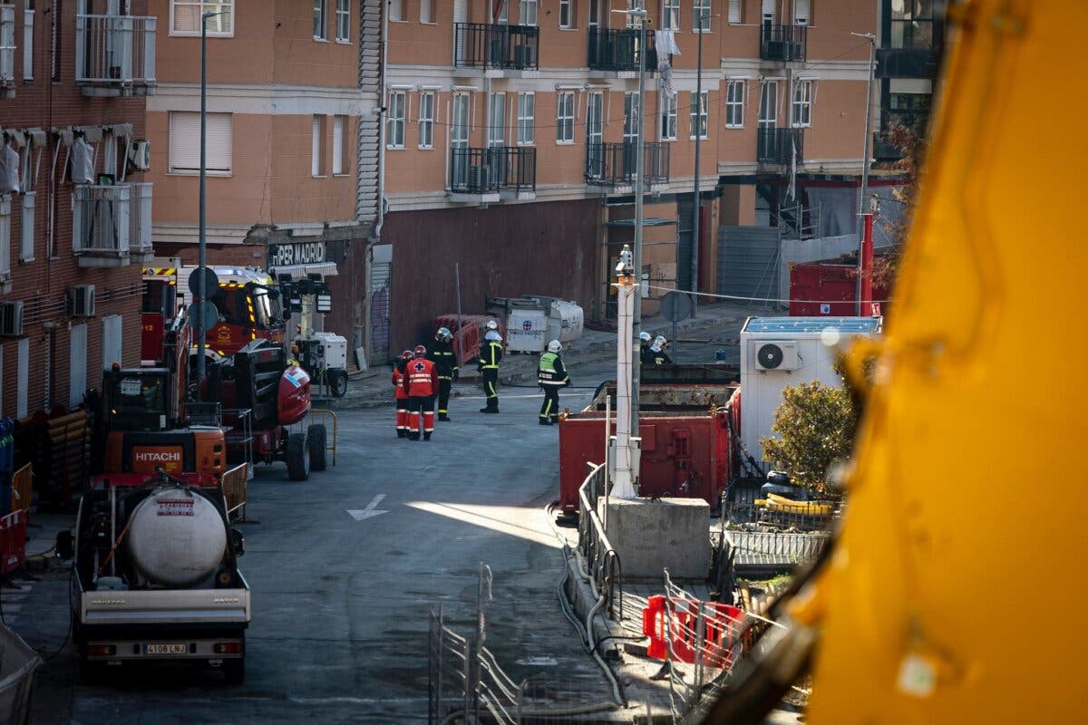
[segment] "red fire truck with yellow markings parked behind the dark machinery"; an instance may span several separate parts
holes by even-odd
[[[180,260],[154,260],[144,268],[143,335],[140,359],[153,364],[162,350],[163,325],[191,303],[189,275],[196,266]],[[286,324],[280,290],[271,275],[256,267],[212,266],[219,289],[209,295],[219,323],[207,333],[208,355],[233,355],[251,340],[283,343]]]

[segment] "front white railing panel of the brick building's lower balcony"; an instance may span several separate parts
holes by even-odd
[[[127,184],[81,184],[72,192],[72,251],[128,255],[132,190]]]

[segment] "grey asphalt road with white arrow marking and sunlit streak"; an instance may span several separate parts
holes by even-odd
[[[700,341],[681,343],[681,361],[710,362],[725,349],[735,362],[737,326],[693,334]],[[580,410],[615,363],[571,365],[571,374],[577,388],[561,404]],[[9,626],[52,655],[30,722],[425,721],[428,613],[445,604],[455,628],[472,633],[480,562],[494,573],[487,643],[502,666],[516,680],[608,699],[556,600],[562,557],[544,507],[557,495],[558,436],[536,425],[542,397],[506,387],[502,414],[483,415],[478,389],[457,393],[454,421],[436,424],[430,442],[397,439],[392,408],[345,411],[335,467],[306,483],[288,480],[282,464],[258,467],[249,516],[260,523],[240,527],[254,590],[243,686],[185,667],[126,667],[102,685],[78,685],[76,649],[57,651],[67,629],[65,567],[26,591],[4,590]]]

